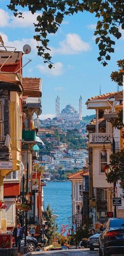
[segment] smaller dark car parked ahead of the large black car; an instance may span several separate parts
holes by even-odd
[[[88,238],[87,247],[90,249],[90,251],[94,251],[95,248],[99,248],[99,235],[100,233],[97,233]]]

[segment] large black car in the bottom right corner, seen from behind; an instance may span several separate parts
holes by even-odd
[[[124,253],[124,218],[111,218],[99,236],[99,256]]]

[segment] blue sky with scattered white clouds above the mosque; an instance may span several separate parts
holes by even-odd
[[[48,69],[43,59],[37,55],[37,42],[33,23],[38,15],[23,10],[24,18],[14,17],[8,10],[10,1],[0,0],[0,34],[5,46],[15,46],[23,51],[29,44],[32,51],[23,55],[23,63],[32,61],[23,68],[23,77],[42,79],[42,115],[41,119],[55,117],[55,101],[60,98],[60,111],[66,105],[73,105],[79,110],[79,97],[82,96],[82,115],[91,115],[94,110],[87,110],[86,101],[90,97],[117,91],[117,84],[111,82],[110,74],[118,70],[117,61],[123,59],[124,33],[116,40],[115,53],[103,67],[97,58],[98,46],[95,44],[94,31],[97,18],[89,13],[66,16],[56,34],[49,35],[54,69]],[[19,9],[22,11],[21,9]]]

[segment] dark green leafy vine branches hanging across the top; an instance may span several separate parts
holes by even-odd
[[[34,39],[41,42],[37,46],[38,55],[42,56],[49,68],[53,67],[49,53],[48,34],[56,33],[66,15],[78,12],[89,12],[97,17],[96,44],[99,47],[98,61],[104,66],[110,60],[110,53],[114,52],[113,37],[119,39],[124,29],[123,0],[11,0],[8,8],[15,16],[22,17],[19,7],[27,7],[32,14],[38,12],[37,23],[34,24]],[[41,12],[41,14],[39,14]]]

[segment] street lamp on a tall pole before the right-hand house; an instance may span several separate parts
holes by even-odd
[[[106,141],[111,144],[112,154],[115,154],[115,139],[112,138],[112,142],[111,142],[111,140],[107,137],[107,139],[104,140],[104,146],[101,150],[102,156],[105,156],[106,153],[107,153],[107,149],[105,148],[105,142]],[[110,174],[111,172],[112,172],[112,168],[109,165],[107,165],[106,175]],[[113,183],[113,197],[116,197],[116,182]],[[116,206],[114,207],[114,217],[117,217],[117,208],[116,208]]]

